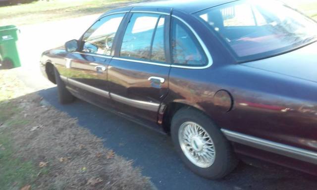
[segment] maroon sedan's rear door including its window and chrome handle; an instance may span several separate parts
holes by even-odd
[[[169,13],[129,13],[108,67],[111,99],[118,111],[157,122],[168,93]]]

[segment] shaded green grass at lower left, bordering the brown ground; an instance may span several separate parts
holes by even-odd
[[[14,127],[26,125],[25,119],[11,119],[20,112],[14,104],[0,103],[0,187],[1,190],[19,190],[25,185],[35,187],[37,175],[47,173],[48,168],[39,168],[32,161],[24,161],[15,155],[10,138],[10,131]]]

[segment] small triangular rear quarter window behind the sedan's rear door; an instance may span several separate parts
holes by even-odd
[[[172,57],[174,64],[206,65],[207,58],[192,32],[177,19],[172,19]]]

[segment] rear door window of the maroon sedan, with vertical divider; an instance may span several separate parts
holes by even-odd
[[[165,16],[134,13],[125,31],[120,56],[165,61]]]

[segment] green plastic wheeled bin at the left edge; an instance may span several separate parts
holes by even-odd
[[[0,26],[0,69],[21,66],[16,42],[19,29],[14,25]]]

